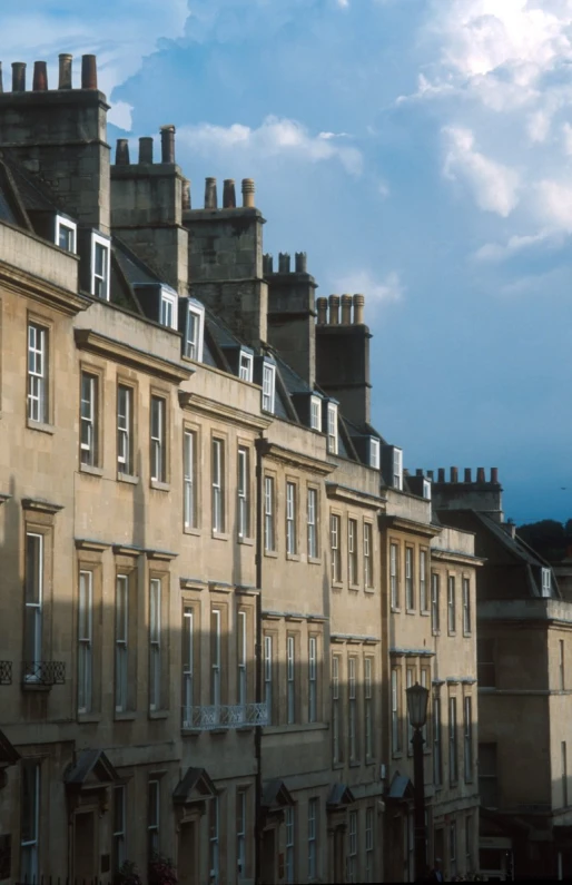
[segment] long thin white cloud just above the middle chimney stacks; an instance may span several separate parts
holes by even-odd
[[[309,163],[338,160],[345,170],[353,176],[362,173],[362,154],[354,147],[336,144],[335,134],[320,132],[317,136],[308,132],[297,120],[279,117],[266,117],[257,129],[243,124],[229,127],[201,124],[185,126],[178,130],[179,144],[185,144],[194,153],[210,156],[215,153],[233,154],[241,151],[254,160],[287,155],[295,159]]]

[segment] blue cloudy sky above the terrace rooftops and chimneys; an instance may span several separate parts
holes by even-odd
[[[95,52],[111,144],[175,124],[195,206],[255,178],[265,250],[365,295],[405,466],[572,517],[572,0],[26,0],[0,33],[4,88]]]

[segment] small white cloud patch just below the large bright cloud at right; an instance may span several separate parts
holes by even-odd
[[[443,134],[447,141],[445,177],[464,180],[481,209],[503,218],[510,215],[519,201],[519,174],[476,150],[470,129],[447,126]]]

